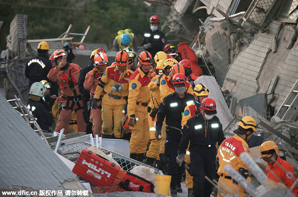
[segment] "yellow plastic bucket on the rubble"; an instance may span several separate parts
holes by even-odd
[[[154,181],[151,181],[155,186],[154,192],[156,194],[161,194],[163,196],[169,196],[172,176],[169,176],[169,175],[155,175],[155,176],[156,176],[156,179]]]

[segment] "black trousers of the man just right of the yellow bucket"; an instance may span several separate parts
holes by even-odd
[[[181,132],[174,129],[166,129],[166,141],[164,144],[164,156],[167,158],[167,171],[171,178],[171,189],[180,186],[182,174],[185,166],[179,166],[176,162],[179,143],[181,141]]]

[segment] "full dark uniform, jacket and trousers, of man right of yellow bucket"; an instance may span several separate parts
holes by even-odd
[[[184,98],[179,98],[176,92],[166,96],[159,105],[157,113],[156,131],[161,130],[165,117],[166,141],[164,145],[164,156],[167,158],[168,175],[172,176],[171,189],[180,185],[184,165],[179,167],[176,162],[178,145],[181,140],[181,120],[185,106],[194,102],[194,96],[185,92]]]

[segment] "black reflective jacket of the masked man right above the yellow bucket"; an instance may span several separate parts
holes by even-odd
[[[179,98],[176,92],[164,97],[163,101],[159,104],[156,118],[156,130],[161,130],[164,117],[166,125],[181,129],[184,108],[186,105],[194,102],[194,100],[194,96],[187,92],[185,92],[185,96],[183,98]]]

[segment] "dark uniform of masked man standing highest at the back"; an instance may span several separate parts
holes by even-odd
[[[144,33],[144,40],[142,46],[145,44],[151,44],[151,48],[147,49],[147,51],[151,54],[152,57],[159,51],[163,51],[164,44],[164,34],[161,31],[146,31]]]

